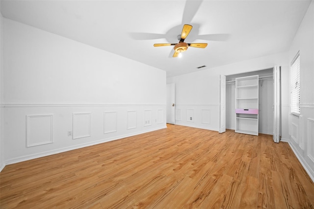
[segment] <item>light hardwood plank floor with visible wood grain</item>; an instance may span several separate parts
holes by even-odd
[[[167,127],[7,165],[0,208],[314,208],[314,183],[288,143]]]

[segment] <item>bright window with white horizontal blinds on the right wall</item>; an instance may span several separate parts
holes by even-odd
[[[291,113],[300,113],[300,53],[298,52],[290,67]]]

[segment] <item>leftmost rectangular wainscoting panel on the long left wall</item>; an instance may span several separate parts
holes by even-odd
[[[26,147],[53,143],[53,115],[26,115]]]

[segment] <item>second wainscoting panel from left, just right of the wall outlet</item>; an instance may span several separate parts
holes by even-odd
[[[91,113],[73,113],[73,139],[90,136]]]

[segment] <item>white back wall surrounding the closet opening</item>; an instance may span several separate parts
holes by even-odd
[[[288,54],[284,52],[168,78],[167,83],[176,84],[176,109],[179,108],[181,112],[181,120],[178,120],[176,115],[176,124],[218,131],[219,75],[259,71],[280,65],[282,67],[282,88],[287,89],[287,60]],[[282,106],[288,106],[288,92],[282,94]],[[176,112],[178,111],[176,110]],[[206,116],[204,116],[204,112],[206,112]],[[194,114],[193,121],[188,120],[188,113]],[[288,120],[287,108],[283,109],[283,120]],[[209,123],[204,123],[204,121]],[[283,123],[283,134],[284,132],[287,136],[288,126]]]

